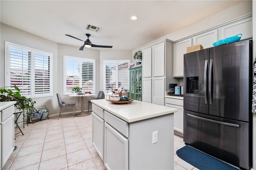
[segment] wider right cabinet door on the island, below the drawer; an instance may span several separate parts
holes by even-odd
[[[105,122],[104,163],[108,170],[128,170],[128,139]]]

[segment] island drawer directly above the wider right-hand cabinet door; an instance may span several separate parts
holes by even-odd
[[[128,137],[128,123],[119,119],[118,117],[104,111],[104,121],[122,133],[124,136]]]

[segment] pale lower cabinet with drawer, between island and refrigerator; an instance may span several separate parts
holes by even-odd
[[[166,97],[165,106],[178,109],[174,113],[174,131],[183,134],[183,100]]]

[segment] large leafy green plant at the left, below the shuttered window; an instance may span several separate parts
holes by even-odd
[[[11,88],[14,88],[16,92],[12,91]],[[31,98],[20,95],[20,89],[16,85],[0,87],[0,102],[2,101],[16,101],[14,106],[16,106],[17,110],[26,111],[29,117],[31,117],[36,110],[34,107],[36,101],[32,101]]]

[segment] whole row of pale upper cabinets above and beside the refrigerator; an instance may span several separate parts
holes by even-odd
[[[183,57],[186,47],[201,44],[204,49],[224,38],[242,34],[241,40],[252,38],[252,14],[242,16],[216,27],[198,32],[173,43],[173,77],[183,77]]]

